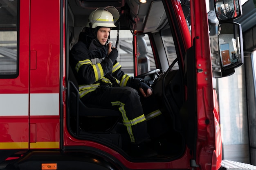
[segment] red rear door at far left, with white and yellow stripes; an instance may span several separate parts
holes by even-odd
[[[1,62],[1,68],[11,67],[8,60],[12,60],[12,66],[17,64],[17,72],[12,75],[1,75],[0,78],[0,149],[27,149],[29,141],[29,0],[5,1],[2,7],[8,11],[13,10],[10,17],[16,17],[18,24],[10,24],[7,31],[0,31],[5,35],[16,34],[17,42],[7,42],[7,46],[1,46],[1,54],[6,63]],[[15,6],[18,6],[16,9]],[[8,24],[7,24],[8,25]],[[17,29],[11,30],[11,26]],[[17,31],[18,30],[18,31]],[[11,38],[10,38],[11,39]],[[0,40],[1,41],[1,40]],[[7,37],[8,41],[8,37]],[[1,43],[2,44],[2,43]],[[16,48],[16,49],[14,49]],[[4,57],[1,56],[3,59]],[[15,68],[14,66],[14,68]],[[4,70],[1,70],[1,72]]]

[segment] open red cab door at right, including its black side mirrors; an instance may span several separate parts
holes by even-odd
[[[197,120],[197,140],[194,142],[195,164],[206,169],[219,169],[222,160],[222,142],[219,126],[218,101],[213,88],[213,77],[224,77],[234,73],[234,68],[243,64],[243,37],[240,24],[233,19],[242,14],[241,3],[234,0],[229,4],[216,1],[218,25],[218,43],[220,52],[221,72],[212,72],[209,29],[207,23],[206,4],[204,1],[193,0],[191,4],[191,35],[192,49],[187,52],[188,103],[191,117]],[[225,6],[226,5],[226,6]],[[229,15],[221,19],[221,8],[229,9]],[[208,25],[208,24],[207,24]],[[225,42],[225,43],[224,43]],[[227,50],[229,49],[229,50]],[[226,51],[227,50],[227,51]],[[226,53],[229,53],[226,55]],[[195,55],[195,59],[191,55]],[[189,79],[189,77],[193,77]],[[195,92],[195,93],[193,93]],[[194,105],[193,105],[194,101]],[[193,143],[193,142],[191,142]],[[191,146],[192,147],[192,146]],[[207,164],[211,167],[207,167]]]

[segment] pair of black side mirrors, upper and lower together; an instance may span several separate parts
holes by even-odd
[[[243,15],[240,0],[215,0],[215,13],[219,20],[218,47],[221,72],[213,72],[220,78],[234,74],[235,68],[243,65],[243,32],[234,19]]]

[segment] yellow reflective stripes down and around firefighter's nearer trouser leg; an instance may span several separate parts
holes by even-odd
[[[112,103],[112,106],[120,106],[119,107],[119,111],[121,112],[122,114],[122,117],[123,117],[123,123],[124,125],[126,126],[127,128],[127,131],[128,131],[128,134],[130,136],[130,139],[131,139],[131,142],[135,142],[135,138],[134,138],[134,135],[132,133],[132,125],[135,125],[139,122],[143,122],[144,120],[146,120],[144,114],[133,119],[133,120],[129,120],[126,116],[126,111],[124,109],[124,103],[120,102],[120,101],[117,101],[117,102],[111,102]]]

